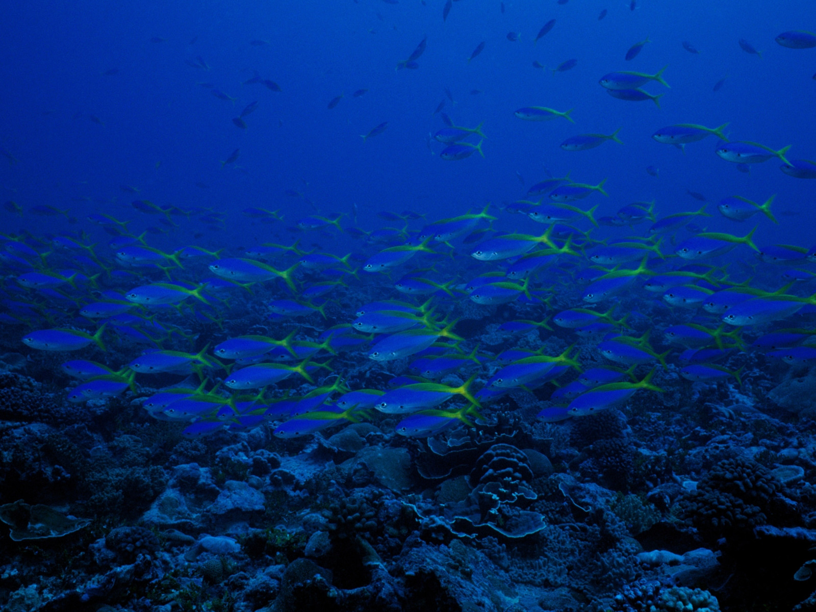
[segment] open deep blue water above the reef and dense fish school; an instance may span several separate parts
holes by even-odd
[[[91,228],[84,221],[89,211],[134,219],[137,228],[154,224],[131,208],[135,197],[211,206],[229,212],[227,232],[233,235],[210,233],[196,241],[185,232],[153,242],[237,245],[273,238],[269,226],[240,215],[246,206],[282,208],[287,223],[315,212],[285,189],[303,191],[322,213],[349,212],[357,202],[361,227],[372,229],[384,222],[366,215],[370,211],[410,209],[440,218],[487,201],[511,202],[525,191],[516,173],[529,186],[546,176],[546,166],[554,175],[570,171],[581,182],[608,178],[610,197],[593,194],[586,201],[601,205],[598,215],[653,197],[659,215],[693,210],[698,202],[686,193],[691,189],[712,202],[709,211],[716,216],[707,227],[738,234],[752,222],[725,220],[716,202],[729,195],[763,202],[778,193],[775,211],[799,214],[779,216],[778,227],[763,218],[757,242],[816,242],[816,181],[784,175],[776,160],[742,174],[716,157],[713,137],[691,144],[685,155],[650,138],[672,123],[730,122],[735,140],[774,149],[792,144],[790,157],[816,159],[816,49],[774,42],[784,30],[816,31],[816,2],[639,0],[630,11],[623,0],[552,0],[505,2],[502,14],[498,0],[462,0],[454,2],[446,22],[443,4],[4,2],[0,147],[20,161],[0,159],[0,199],[24,208],[71,209],[81,222],[70,229]],[[609,14],[598,21],[602,8]],[[534,45],[535,34],[552,18],[555,28]],[[510,31],[521,33],[521,40],[509,42]],[[425,34],[420,68],[395,71]],[[647,36],[652,42],[641,54],[624,61],[628,47]],[[764,51],[762,59],[740,49],[739,38]],[[252,46],[253,39],[268,44]],[[683,40],[700,54],[685,51]],[[485,50],[468,64],[481,41]],[[209,71],[185,64],[197,55]],[[539,60],[555,67],[570,58],[578,65],[565,73],[532,66]],[[672,89],[645,87],[665,91],[662,109],[648,101],[615,100],[597,84],[612,70],[652,73],[666,64]],[[102,74],[112,68],[118,74]],[[282,93],[242,85],[254,70],[279,83]],[[725,75],[725,86],[712,92]],[[197,82],[212,82],[237,100],[218,100]],[[353,98],[362,87],[370,91]],[[432,146],[437,154],[428,150],[428,134],[443,126],[432,112],[446,99],[445,87],[455,96],[456,104],[448,100],[445,107],[455,122],[484,122],[486,158],[446,162],[438,156],[439,144]],[[484,93],[471,95],[473,89]],[[343,93],[335,109],[326,109]],[[259,108],[242,131],[230,120],[252,100],[259,100]],[[527,105],[574,107],[576,123],[513,116]],[[384,121],[384,134],[367,142],[359,137]],[[607,143],[579,153],[558,147],[570,135],[618,127],[623,146]],[[220,161],[237,148],[236,166],[222,168]],[[650,165],[659,167],[659,178],[646,174]],[[122,184],[140,193],[123,193]],[[6,231],[65,227],[63,218],[0,215]],[[541,229],[517,215],[505,215],[501,224]]]

